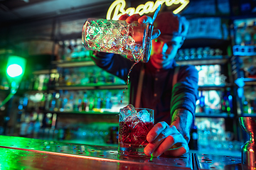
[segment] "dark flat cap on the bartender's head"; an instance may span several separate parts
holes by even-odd
[[[177,35],[186,37],[189,23],[184,16],[172,12],[162,12],[154,21],[154,28],[161,31],[161,35]]]

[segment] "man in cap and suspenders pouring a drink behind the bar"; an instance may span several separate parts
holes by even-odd
[[[124,14],[119,20],[150,23],[152,18]],[[189,151],[189,132],[198,98],[198,71],[192,65],[179,66],[174,60],[188,33],[186,18],[171,12],[159,13],[154,28],[149,62],[135,64],[129,75],[129,101],[136,108],[154,109],[156,125],[146,136],[149,144],[144,153],[151,157],[178,157]],[[124,81],[134,64],[128,57],[106,52],[95,52],[92,60]]]

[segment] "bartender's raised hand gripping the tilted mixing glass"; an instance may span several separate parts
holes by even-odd
[[[122,21],[127,21],[127,23],[133,23],[137,21],[138,23],[151,23],[152,18],[150,16],[140,16],[138,13],[134,14],[132,16],[129,16],[129,14],[125,13],[124,15],[119,17],[119,20]],[[152,33],[152,40],[155,38],[158,38],[160,35],[160,30],[159,29],[154,29]],[[133,60],[132,56],[127,56],[130,60]]]

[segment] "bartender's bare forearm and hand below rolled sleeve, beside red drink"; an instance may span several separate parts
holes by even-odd
[[[176,111],[171,125],[166,122],[156,123],[146,136],[149,144],[144,148],[144,153],[151,157],[159,157],[161,154],[179,157],[186,154],[189,151],[188,141],[192,120],[192,113]]]

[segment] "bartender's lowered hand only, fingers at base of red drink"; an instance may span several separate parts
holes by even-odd
[[[159,157],[161,154],[179,157],[189,151],[185,138],[174,125],[168,125],[166,122],[156,123],[146,140],[149,144],[144,148],[144,153],[151,157]]]

